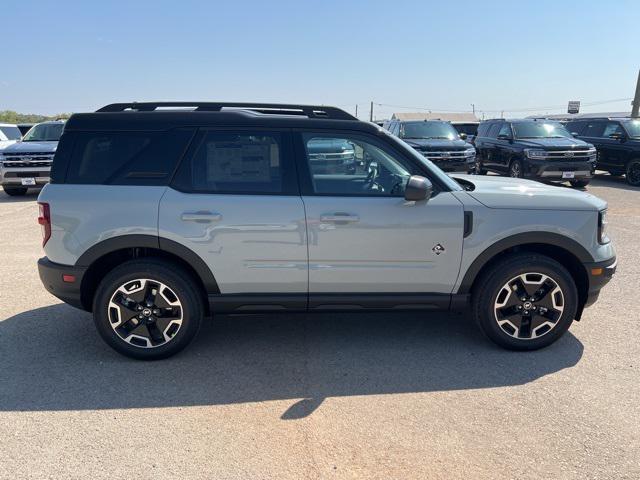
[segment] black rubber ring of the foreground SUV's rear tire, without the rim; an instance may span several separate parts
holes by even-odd
[[[125,342],[111,328],[108,305],[118,287],[128,281],[147,278],[167,285],[182,305],[182,325],[175,337],[154,348],[136,347]],[[93,319],[100,336],[116,351],[142,360],[166,358],[185,348],[199,330],[203,315],[202,301],[189,275],[164,262],[132,261],[116,267],[107,274],[96,291],[93,302]]]

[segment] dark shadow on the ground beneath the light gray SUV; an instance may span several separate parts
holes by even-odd
[[[580,360],[568,333],[537,352],[493,346],[463,315],[225,316],[181,354],[123,357],[91,316],[64,304],[0,322],[0,411],[221,405],[292,400],[282,419],[327,397],[522,385]]]

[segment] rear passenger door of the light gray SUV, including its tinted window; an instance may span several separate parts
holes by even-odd
[[[201,130],[161,200],[159,233],[202,258],[221,294],[293,294],[306,307],[305,215],[289,133]]]

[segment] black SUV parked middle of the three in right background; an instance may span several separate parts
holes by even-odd
[[[550,120],[487,120],[478,127],[475,146],[481,175],[493,171],[585,187],[596,165],[593,145]]]

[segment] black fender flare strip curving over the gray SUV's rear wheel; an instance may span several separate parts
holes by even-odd
[[[88,268],[99,258],[127,248],[153,248],[175,255],[196,272],[207,294],[220,293],[220,288],[211,269],[198,254],[178,242],[155,235],[132,234],[108,238],[90,247],[78,258],[75,265]]]

